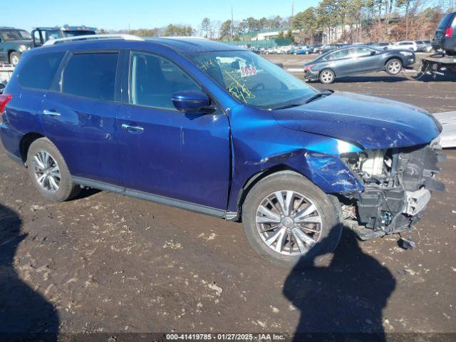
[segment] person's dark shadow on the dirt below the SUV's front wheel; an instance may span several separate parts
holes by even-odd
[[[344,229],[328,267],[302,266],[296,264],[284,284],[284,296],[301,311],[294,341],[301,341],[299,333],[311,333],[306,341],[312,336],[315,341],[323,336],[350,341],[358,341],[358,336],[365,341],[365,333],[373,334],[369,341],[385,341],[382,310],[396,281],[385,266],[361,251],[353,232]]]

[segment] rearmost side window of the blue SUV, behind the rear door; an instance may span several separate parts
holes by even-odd
[[[19,72],[21,86],[32,89],[48,90],[65,52],[43,53],[28,58]]]

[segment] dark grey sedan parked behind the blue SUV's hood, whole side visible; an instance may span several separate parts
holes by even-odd
[[[333,83],[338,77],[386,71],[397,75],[403,66],[415,63],[415,53],[410,50],[378,50],[370,46],[349,46],[315,58],[304,64],[304,76],[308,81]]]

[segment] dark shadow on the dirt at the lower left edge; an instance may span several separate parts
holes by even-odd
[[[0,340],[56,341],[58,314],[41,294],[22,281],[14,268],[21,219],[0,204]]]

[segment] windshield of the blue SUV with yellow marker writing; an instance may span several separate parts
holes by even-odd
[[[277,109],[304,104],[318,93],[284,69],[249,51],[219,51],[191,56],[196,65],[239,102]]]

